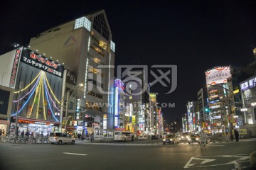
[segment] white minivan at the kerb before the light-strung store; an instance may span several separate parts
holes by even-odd
[[[51,132],[49,135],[49,142],[51,144],[57,144],[57,143],[58,144],[63,144],[63,143],[75,144],[75,138],[67,133]]]

